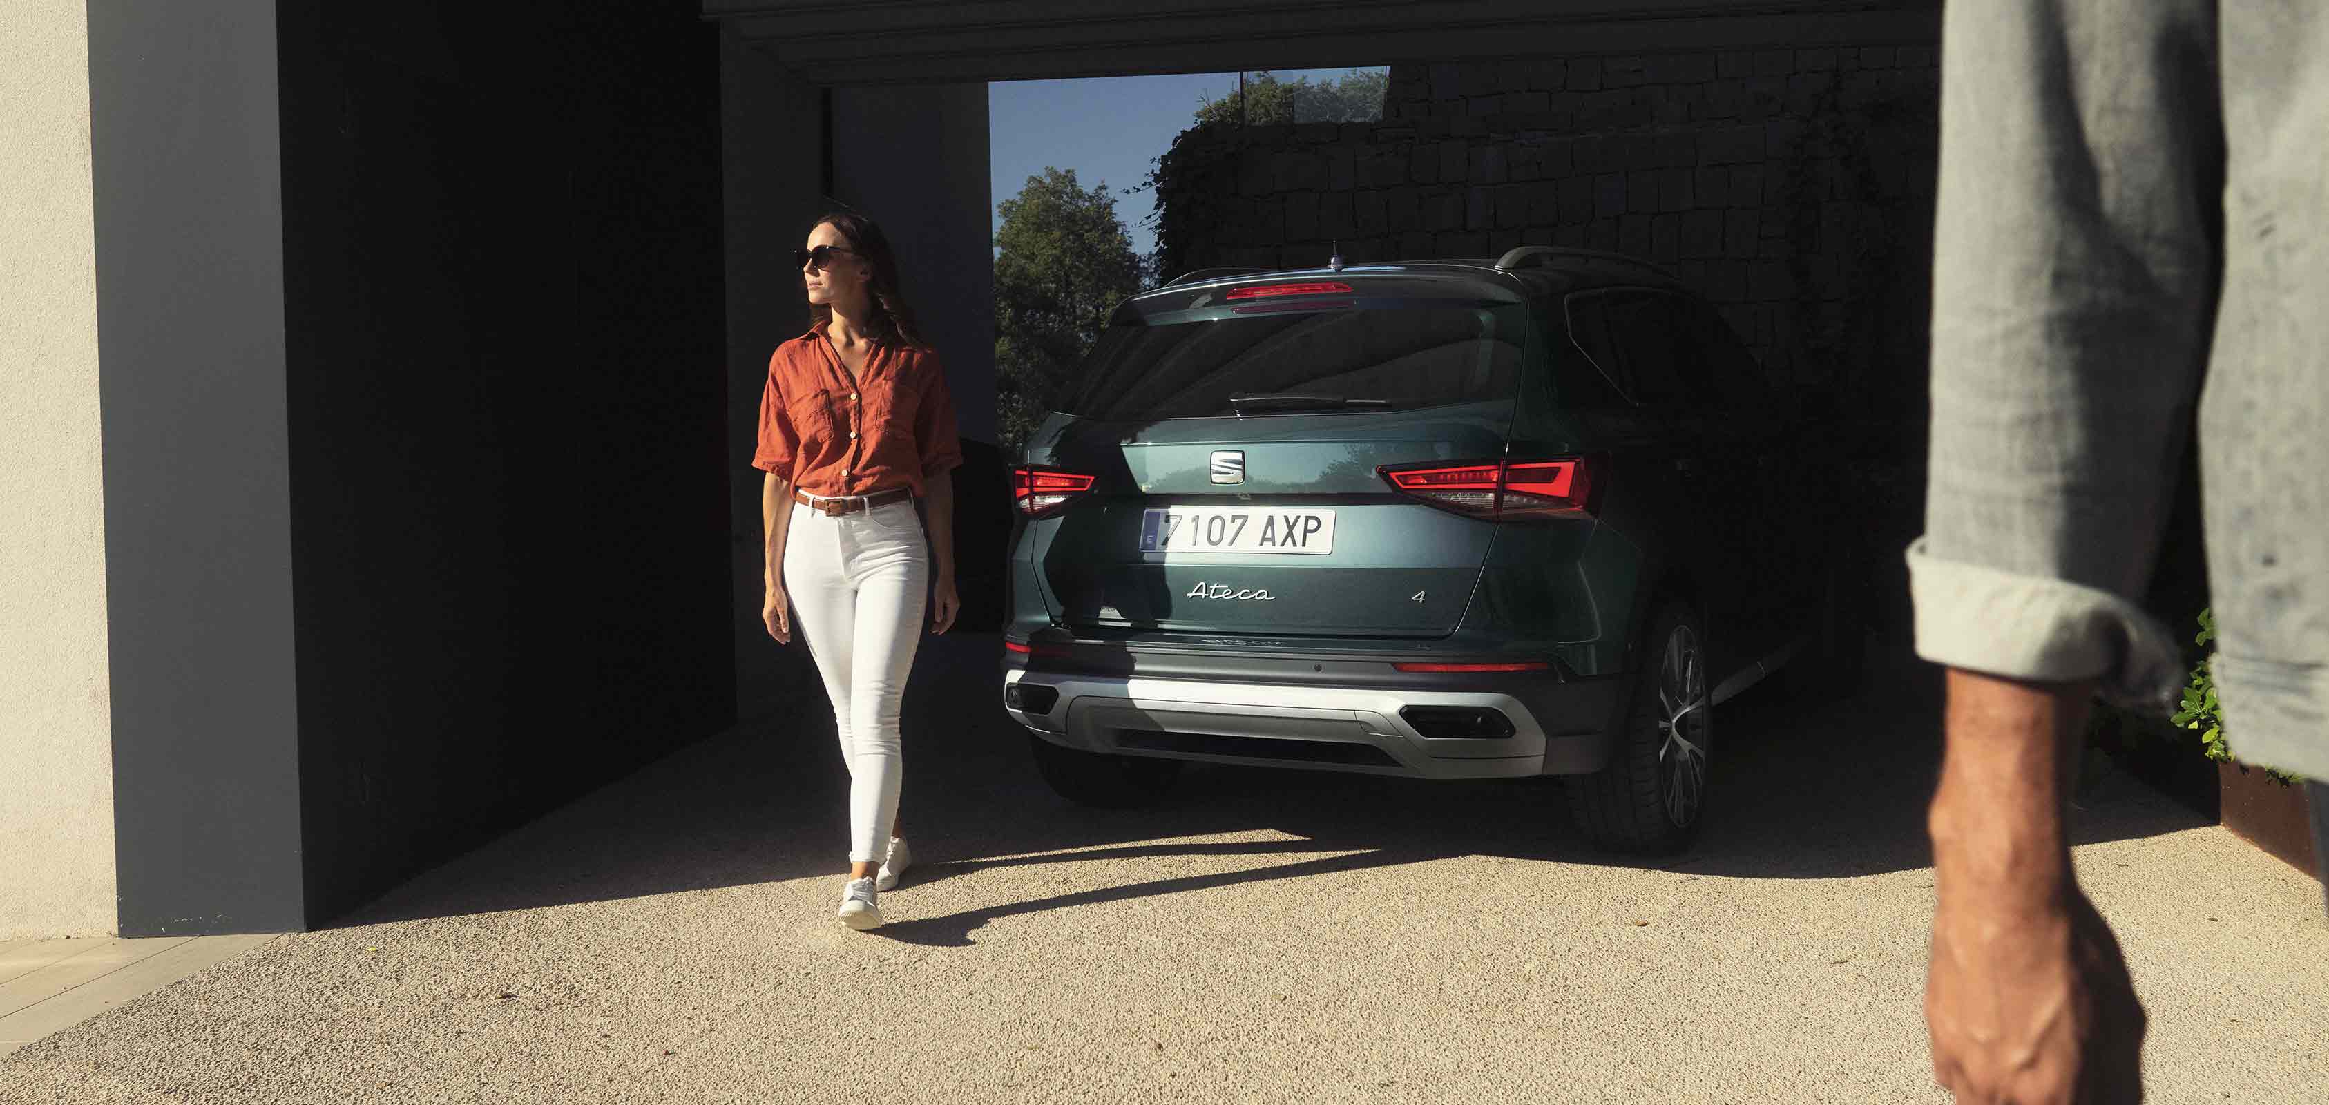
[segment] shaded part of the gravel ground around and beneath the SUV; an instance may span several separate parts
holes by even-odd
[[[904,921],[878,932],[960,944],[997,916],[1451,856],[1740,879],[1849,879],[1928,867],[1924,809],[1940,762],[1940,678],[1900,646],[1875,648],[1868,683],[1854,699],[1814,706],[1751,688],[1726,702],[1716,716],[1719,786],[1698,844],[1682,856],[1647,858],[1579,837],[1558,779],[1432,783],[1192,765],[1153,807],[1076,807],[1043,786],[1025,732],[999,709],[999,639],[929,639],[906,702],[901,828],[918,844],[915,884],[1006,865],[1106,858],[1304,858]],[[845,797],[831,713],[820,695],[585,795],[333,925],[834,877],[843,872]],[[2206,823],[2124,776],[2084,790],[2077,807],[2077,844]],[[1293,839],[1197,839],[1258,830]]]

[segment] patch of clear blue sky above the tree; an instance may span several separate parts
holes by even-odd
[[[1318,82],[1344,72],[1348,70],[1274,70],[1286,82]],[[1018,196],[1043,166],[1071,168],[1083,186],[1106,182],[1118,193],[1116,217],[1132,231],[1132,249],[1148,254],[1155,235],[1141,219],[1155,210],[1155,196],[1125,196],[1120,189],[1148,180],[1151,161],[1188,128],[1199,100],[1218,100],[1232,91],[1237,72],[987,84],[994,203]]]

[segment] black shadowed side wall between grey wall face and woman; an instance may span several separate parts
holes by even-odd
[[[715,28],[279,9],[305,914],[734,720]]]

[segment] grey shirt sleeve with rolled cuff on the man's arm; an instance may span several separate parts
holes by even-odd
[[[2166,704],[2140,599],[2208,357],[2215,5],[1952,0],[1917,653]]]

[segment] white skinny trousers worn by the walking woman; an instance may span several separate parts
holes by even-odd
[[[929,550],[913,501],[848,515],[792,504],[785,592],[834,699],[850,769],[850,863],[890,853],[904,781],[897,716],[922,643]]]

